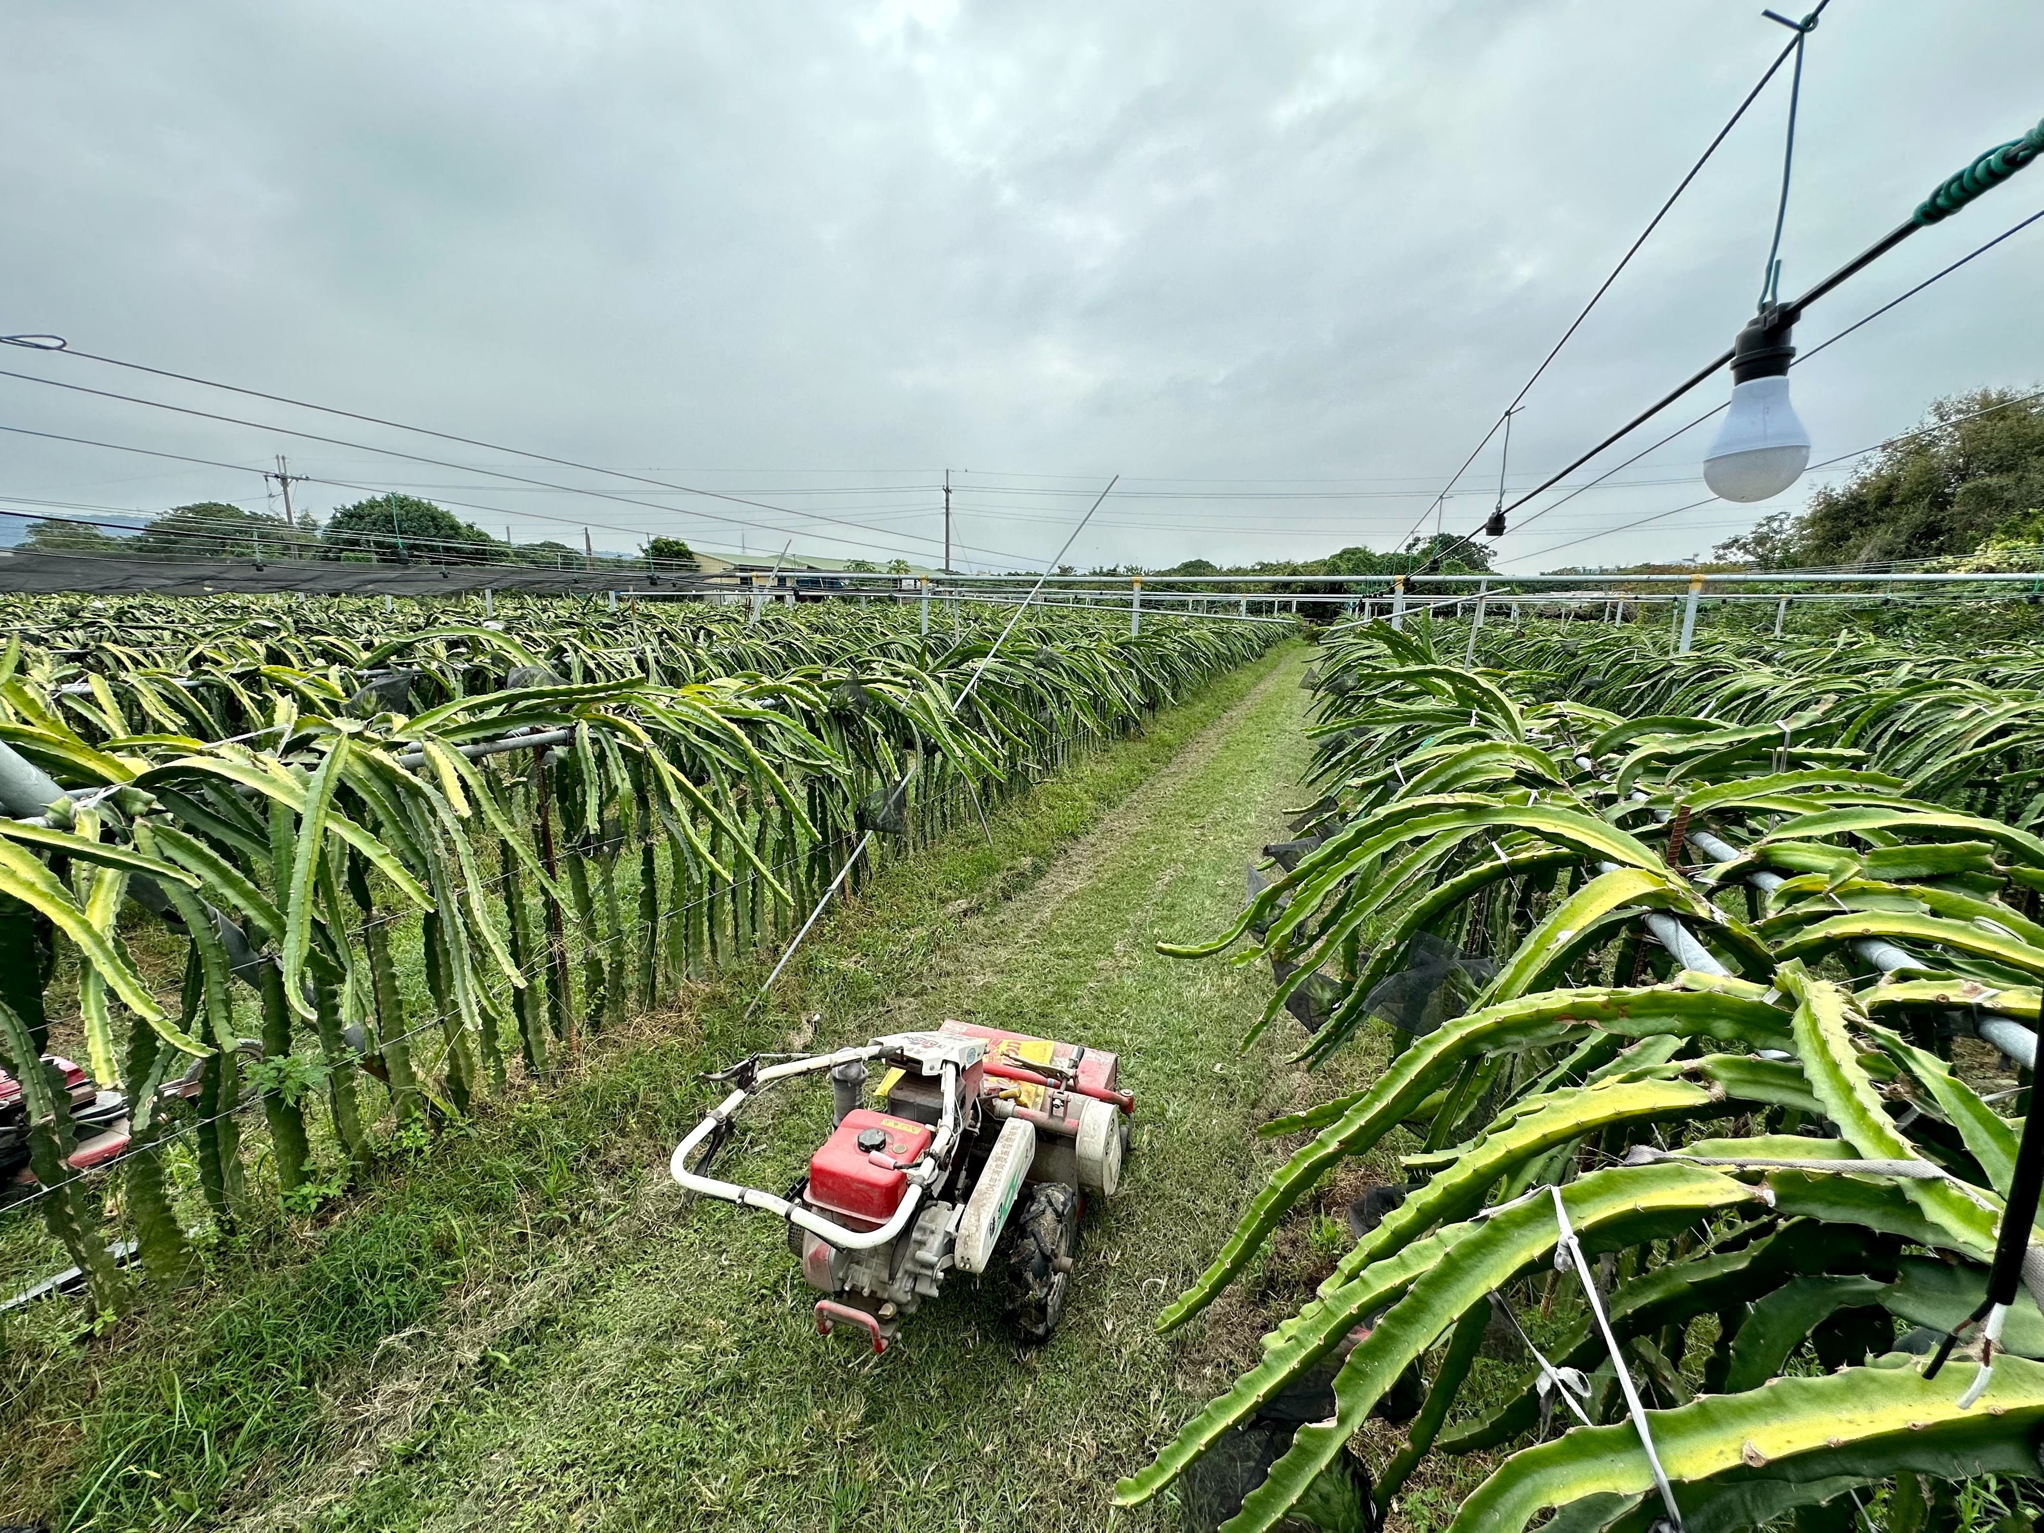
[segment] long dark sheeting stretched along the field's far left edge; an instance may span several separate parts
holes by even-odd
[[[350,564],[341,560],[266,558],[110,558],[0,550],[0,591],[88,597],[204,597],[213,593],[303,591],[315,597],[444,597],[460,591],[587,595],[636,591],[691,595],[709,591],[701,576],[646,570],[550,570],[521,564]]]

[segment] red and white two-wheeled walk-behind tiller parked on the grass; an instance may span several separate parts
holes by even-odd
[[[764,1059],[705,1077],[734,1089],[675,1147],[670,1167],[689,1192],[787,1220],[801,1275],[824,1294],[818,1333],[856,1325],[887,1351],[953,1267],[985,1273],[1004,1261],[1016,1335],[1051,1337],[1085,1200],[1112,1198],[1122,1179],[1134,1098],[1112,1053],[946,1020],[834,1055]],[[873,1063],[881,1075],[863,1106]],[[746,1098],[820,1071],[836,1128],[787,1196],[709,1175]]]

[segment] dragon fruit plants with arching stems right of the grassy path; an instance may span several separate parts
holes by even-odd
[[[1308,1065],[1394,1032],[1367,1087],[1267,1124],[1292,1153],[1163,1329],[1343,1163],[1404,1179],[1118,1500],[1306,1388],[1325,1419],[1228,1533],[1376,1527],[1429,1464],[1474,1486],[1455,1533],[2028,1527],[2044,662],[1480,640],[1466,668],[1459,625],[1335,630],[1325,797],[1230,930],[1165,946],[1267,959],[1257,1030]],[[1523,1367],[1482,1357],[1500,1322]]]

